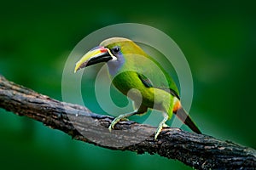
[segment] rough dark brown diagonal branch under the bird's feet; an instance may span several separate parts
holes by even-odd
[[[164,128],[155,141],[155,127],[131,121],[119,122],[109,133],[112,116],[97,115],[83,106],[50,99],[1,75],[0,107],[59,129],[73,139],[112,150],[159,154],[197,169],[256,169],[256,151],[251,148],[170,127]]]

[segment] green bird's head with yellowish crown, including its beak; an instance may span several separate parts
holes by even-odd
[[[112,62],[119,65],[124,63],[124,56],[127,56],[127,54],[146,55],[143,49],[130,39],[123,37],[108,38],[101,42],[99,46],[84,54],[76,63],[74,72],[101,62]]]

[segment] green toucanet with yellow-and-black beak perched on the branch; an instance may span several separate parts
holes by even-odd
[[[113,86],[128,95],[135,106],[135,111],[116,117],[108,127],[109,131],[128,116],[142,115],[148,109],[154,109],[163,113],[163,120],[154,133],[154,139],[166,126],[166,121],[172,118],[172,113],[195,133],[201,133],[183,110],[172,77],[135,42],[123,37],[108,38],[84,54],[76,63],[74,72],[100,62],[107,62]]]

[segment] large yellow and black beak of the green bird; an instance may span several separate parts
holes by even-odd
[[[109,60],[114,59],[116,59],[116,57],[111,54],[108,48],[101,46],[92,48],[88,53],[84,54],[81,59],[79,59],[75,66],[74,72],[77,72],[86,66],[95,65],[101,62],[108,62]]]

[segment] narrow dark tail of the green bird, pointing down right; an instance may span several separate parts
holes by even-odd
[[[201,134],[201,131],[199,128],[195,125],[195,122],[192,121],[191,117],[187,114],[187,112],[183,109],[183,107],[180,107],[175,115],[185,124],[187,125],[191,130],[193,130],[195,133]]]

